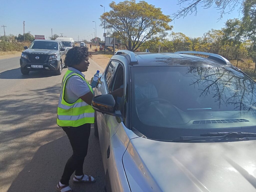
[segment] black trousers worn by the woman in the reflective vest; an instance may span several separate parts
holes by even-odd
[[[68,135],[73,149],[73,155],[68,159],[60,182],[69,185],[69,179],[75,171],[75,175],[83,175],[83,162],[87,155],[91,124],[83,124],[79,127],[62,127]]]

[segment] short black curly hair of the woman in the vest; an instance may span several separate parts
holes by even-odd
[[[65,58],[65,65],[69,67],[78,65],[82,59],[88,56],[89,52],[87,47],[74,47],[68,50]]]

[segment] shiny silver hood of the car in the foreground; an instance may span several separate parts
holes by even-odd
[[[174,143],[137,137],[123,155],[131,191],[256,191],[256,141]]]

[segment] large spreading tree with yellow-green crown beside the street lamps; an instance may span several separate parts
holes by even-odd
[[[135,0],[109,4],[109,12],[101,15],[101,26],[112,32],[117,32],[126,48],[136,51],[145,41],[159,36],[166,36],[166,31],[172,26],[169,16],[164,15],[160,8]]]

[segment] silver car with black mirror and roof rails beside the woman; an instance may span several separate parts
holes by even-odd
[[[92,106],[107,191],[256,191],[256,84],[222,56],[118,51]]]

